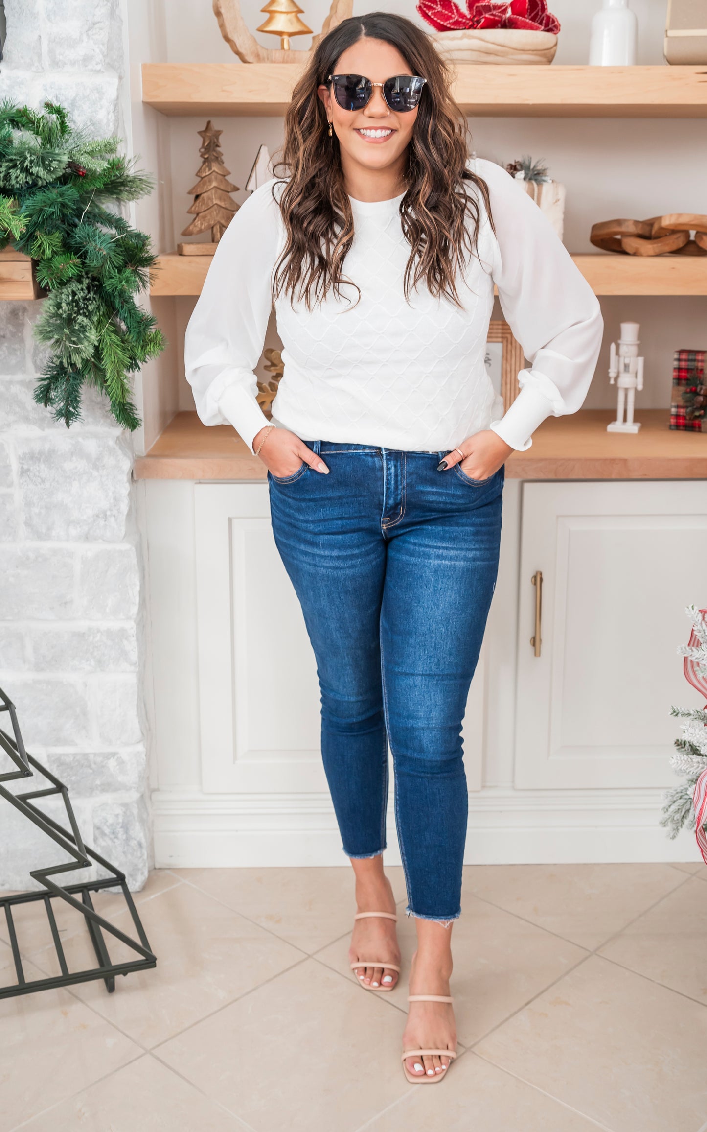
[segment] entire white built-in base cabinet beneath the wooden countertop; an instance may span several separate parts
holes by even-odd
[[[157,865],[344,864],[314,658],[264,483],[144,481]],[[464,724],[467,860],[684,860],[657,824],[691,703],[704,481],[506,487]],[[531,645],[542,572],[540,655]],[[397,846],[389,821],[390,861]]]

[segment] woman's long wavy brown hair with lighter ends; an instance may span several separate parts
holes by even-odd
[[[476,251],[481,222],[472,186],[489,216],[484,180],[466,168],[466,120],[449,93],[450,75],[429,36],[409,19],[376,11],[345,19],[329,32],[296,84],[285,117],[278,194],[286,243],[274,274],[274,294],[285,293],[308,309],[348,283],[344,260],[354,235],[351,201],[344,187],[340,149],[317,87],[327,83],[347,48],[368,36],[382,40],[405,58],[413,75],[426,78],[412,140],[407,146],[400,221],[409,243],[405,295],[424,282],[433,295],[462,306],[457,274]],[[471,216],[472,223],[468,223]],[[493,224],[493,220],[491,220]]]

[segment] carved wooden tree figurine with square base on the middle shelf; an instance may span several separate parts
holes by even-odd
[[[199,180],[189,189],[193,204],[187,211],[195,213],[195,217],[182,235],[198,235],[210,229],[212,242],[180,243],[176,249],[180,256],[213,256],[216,245],[239,209],[239,205],[230,196],[238,190],[238,185],[231,185],[226,180],[230,170],[223,163],[218,142],[223,130],[215,130],[209,119],[205,129],[198,130],[198,134],[202,138],[199,153],[204,160],[197,170]]]

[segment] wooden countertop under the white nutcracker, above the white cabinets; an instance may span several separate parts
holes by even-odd
[[[607,432],[611,411],[581,410],[550,418],[528,452],[506,464],[515,480],[707,479],[707,434],[671,431],[667,409],[639,410],[636,435]],[[178,413],[147,455],[138,480],[265,480],[266,469],[226,424],[206,428],[196,413]]]

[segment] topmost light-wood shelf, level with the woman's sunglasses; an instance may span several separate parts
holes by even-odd
[[[282,117],[301,67],[143,63],[143,102],[163,114]],[[707,67],[458,63],[455,97],[476,117],[707,118]]]

